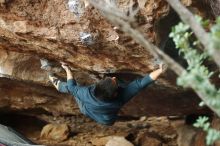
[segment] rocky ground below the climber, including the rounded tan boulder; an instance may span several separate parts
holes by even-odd
[[[96,124],[82,115],[42,115],[51,120],[49,125],[43,119],[28,116],[20,116],[15,124],[12,117],[18,119],[16,115],[3,118],[32,141],[49,146],[104,146],[111,142],[121,143],[120,146],[189,146],[195,138],[202,144],[199,146],[204,145],[204,134],[201,136],[201,131],[186,125],[183,117],[122,118],[113,126]]]

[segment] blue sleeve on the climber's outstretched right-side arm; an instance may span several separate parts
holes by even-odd
[[[145,77],[136,79],[129,83],[120,92],[122,98],[122,103],[127,103],[132,97],[137,95],[142,89],[146,88],[148,85],[153,83],[154,80],[147,74]]]

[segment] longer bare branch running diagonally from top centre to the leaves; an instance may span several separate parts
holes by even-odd
[[[176,74],[181,75],[185,69],[176,63],[172,58],[170,58],[167,54],[163,53],[158,47],[151,44],[142,33],[138,30],[132,28],[129,22],[125,20],[132,20],[132,18],[124,18],[120,19],[120,17],[116,17],[117,15],[112,13],[119,13],[119,16],[122,16],[121,11],[116,7],[111,7],[112,5],[106,5],[104,1],[90,0],[90,3],[101,10],[102,14],[108,18],[114,25],[121,27],[121,29],[129,34],[137,43],[142,45],[150,54],[152,54],[155,58],[161,58],[164,62],[167,63],[168,67],[171,68]],[[126,16],[125,17],[129,17]]]

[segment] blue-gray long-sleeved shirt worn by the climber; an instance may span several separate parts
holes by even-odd
[[[124,87],[119,85],[117,97],[111,101],[104,101],[95,97],[95,84],[91,86],[79,86],[75,80],[71,79],[67,81],[67,88],[76,98],[80,111],[83,114],[98,123],[112,125],[118,117],[120,108],[152,82],[151,77],[146,75]]]

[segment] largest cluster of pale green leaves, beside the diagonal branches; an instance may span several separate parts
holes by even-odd
[[[176,48],[183,54],[189,65],[187,71],[178,78],[177,84],[191,87],[201,93],[204,103],[220,116],[220,91],[209,81],[213,73],[202,65],[207,58],[207,53],[199,53],[192,47],[190,44],[192,32],[189,32],[189,29],[188,25],[179,23],[173,27],[172,33],[170,33]],[[197,42],[194,42],[194,47],[196,44]]]

